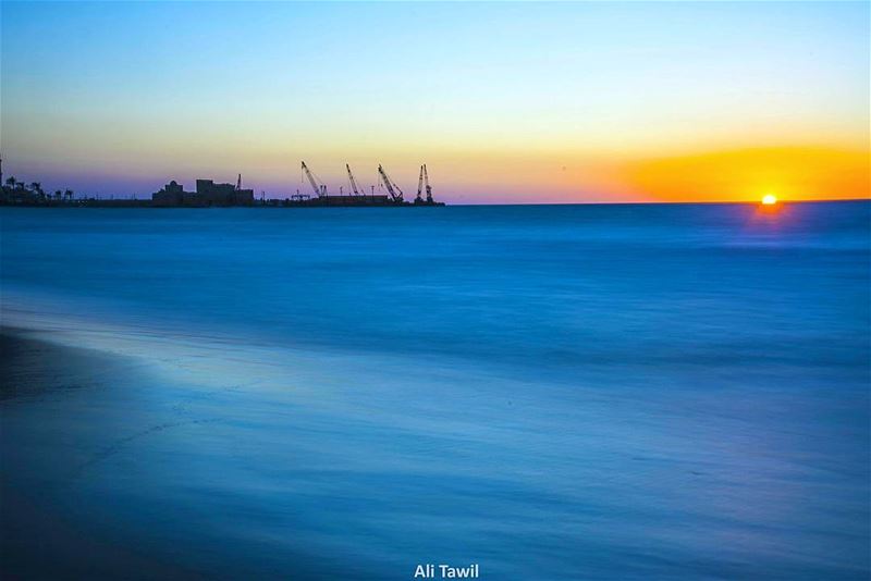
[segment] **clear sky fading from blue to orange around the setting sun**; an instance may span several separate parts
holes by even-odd
[[[869,197],[868,2],[0,3],[4,177],[454,203]],[[410,194],[410,196],[409,196]]]

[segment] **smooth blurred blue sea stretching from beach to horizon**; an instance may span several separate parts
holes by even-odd
[[[185,574],[867,579],[870,219],[4,208],[3,323],[130,362],[4,486]]]

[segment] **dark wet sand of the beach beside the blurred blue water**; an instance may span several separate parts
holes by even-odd
[[[148,408],[156,383],[136,358],[72,348],[0,327],[0,570],[3,579],[272,577],[232,532],[197,514],[220,499],[163,494],[185,474],[145,452],[150,440],[207,423]],[[126,469],[126,470],[125,470]],[[154,481],[136,478],[148,473]],[[197,503],[200,503],[198,506]],[[318,577],[293,554],[282,574]],[[271,572],[270,572],[271,569]],[[336,574],[338,571],[334,571]]]

